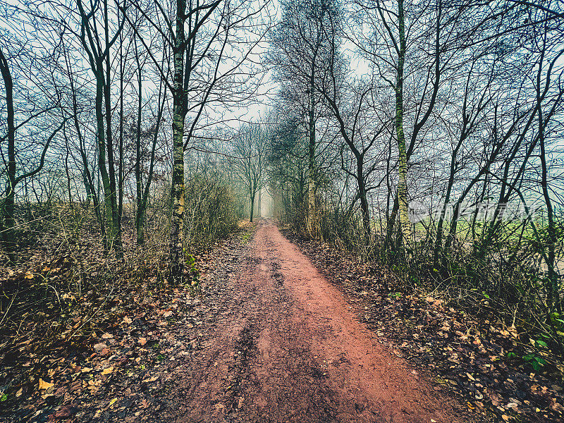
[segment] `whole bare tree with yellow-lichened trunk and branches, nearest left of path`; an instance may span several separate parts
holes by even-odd
[[[247,82],[254,74],[243,70],[243,66],[264,37],[268,25],[257,23],[256,19],[267,4],[257,7],[245,0],[235,4],[223,0],[203,4],[178,0],[173,18],[159,1],[154,2],[152,9],[140,3],[134,6],[172,51],[173,71],[172,81],[169,81],[165,66],[161,65],[147,40],[132,25],[135,35],[159,69],[173,100],[169,278],[173,283],[180,283],[184,269],[184,152],[200,128],[207,107],[235,104],[252,94],[252,85]],[[159,20],[151,16],[158,16]],[[232,38],[245,31],[253,35],[249,42],[231,42]]]

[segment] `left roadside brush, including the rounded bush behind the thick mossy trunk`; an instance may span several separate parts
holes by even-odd
[[[16,209],[18,243],[11,246],[16,260],[4,255],[0,275],[1,407],[8,415],[35,395],[56,402],[60,397],[49,388],[61,382],[61,369],[88,367],[84,360],[92,354],[104,357],[99,346],[107,345],[104,333],[127,328],[140,312],[166,310],[173,290],[200,293],[207,254],[238,231],[238,219],[221,178],[194,176],[187,191],[194,192],[186,200],[197,214],[184,227],[188,242],[181,286],[166,277],[166,197],[156,197],[147,209],[142,246],[136,244],[134,210],[124,207],[119,255],[104,254],[92,205],[56,201],[54,192],[51,204]]]

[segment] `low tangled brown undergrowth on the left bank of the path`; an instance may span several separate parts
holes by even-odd
[[[41,219],[18,228],[16,262],[0,255],[0,409],[37,389],[53,360],[90,356],[93,340],[128,315],[166,303],[175,289],[200,293],[198,261],[206,247],[185,247],[187,283],[169,286],[168,229],[159,225],[159,216],[147,223],[145,247],[133,244],[135,236],[124,236],[118,257],[104,255],[92,209],[52,206],[31,212]],[[123,232],[132,233],[132,225],[125,214]],[[207,248],[233,227],[228,222],[206,235]]]

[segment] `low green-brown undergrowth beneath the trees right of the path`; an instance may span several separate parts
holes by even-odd
[[[562,364],[564,318],[547,305],[546,275],[539,268],[542,245],[522,238],[517,242],[510,236],[515,231],[510,224],[500,227],[484,258],[477,255],[479,244],[455,240],[448,250],[437,252],[434,239],[424,237],[405,255],[386,245],[384,235],[377,231],[379,225],[374,225],[376,233],[367,242],[359,216],[345,219],[331,209],[318,219],[316,237],[305,231],[300,221],[285,224],[302,239],[316,238],[362,262],[388,269],[395,282],[384,281],[384,295],[430,295],[449,307],[516,331],[522,345],[513,359],[531,371],[552,372]],[[563,294],[560,282],[560,298]]]

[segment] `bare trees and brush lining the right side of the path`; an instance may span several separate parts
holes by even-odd
[[[386,266],[400,292],[500,321],[538,357],[535,371],[557,371],[562,20],[496,7],[284,2],[270,186],[297,231]]]

